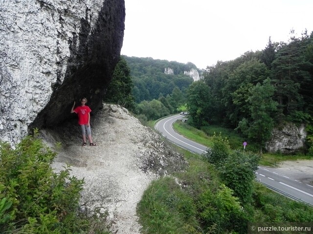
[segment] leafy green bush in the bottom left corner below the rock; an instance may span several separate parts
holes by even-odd
[[[56,153],[37,137],[25,137],[15,149],[1,143],[0,230],[3,233],[88,232],[90,221],[78,212],[84,181],[70,176],[69,167],[55,173],[50,166],[55,157]]]

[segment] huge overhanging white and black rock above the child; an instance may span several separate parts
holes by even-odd
[[[1,0],[0,140],[58,124],[81,97],[99,109],[124,20],[124,0]]]

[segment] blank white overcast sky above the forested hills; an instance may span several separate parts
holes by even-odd
[[[121,54],[198,68],[313,31],[313,0],[125,0]]]

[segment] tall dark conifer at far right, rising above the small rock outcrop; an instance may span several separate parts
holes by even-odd
[[[289,44],[277,50],[276,58],[272,62],[275,98],[286,116],[303,110],[303,95],[309,95],[307,87],[312,87],[310,71],[313,65],[306,57],[309,43],[308,38],[301,40],[292,37]]]

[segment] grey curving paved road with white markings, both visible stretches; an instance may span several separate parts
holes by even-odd
[[[182,148],[197,154],[206,153],[208,151],[206,146],[182,137],[174,131],[172,124],[181,118],[184,118],[184,116],[174,115],[160,119],[156,123],[155,128],[168,140],[174,142]],[[267,167],[258,168],[256,171],[256,179],[276,192],[289,196],[295,200],[313,205],[313,186],[309,184],[302,183],[288,175],[273,172],[271,171],[271,168]]]

